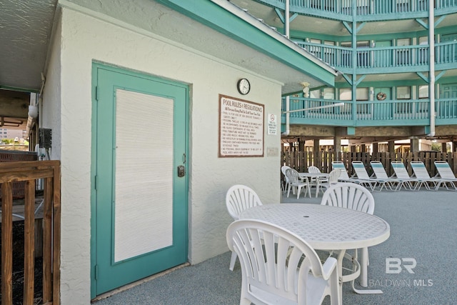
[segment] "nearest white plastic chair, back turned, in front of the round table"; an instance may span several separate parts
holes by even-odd
[[[241,263],[240,304],[341,304],[333,257],[321,264],[316,251],[293,232],[266,221],[241,219],[226,233]]]

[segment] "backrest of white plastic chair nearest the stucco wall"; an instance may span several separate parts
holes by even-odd
[[[248,186],[236,184],[231,186],[226,194],[226,206],[230,216],[233,219],[239,219],[242,211],[252,208],[253,206],[261,206],[262,203],[253,189]]]

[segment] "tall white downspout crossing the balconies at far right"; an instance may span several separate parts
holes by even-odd
[[[430,99],[430,134],[435,136],[435,12],[434,1],[428,1],[428,46],[430,71],[428,72],[428,98]]]

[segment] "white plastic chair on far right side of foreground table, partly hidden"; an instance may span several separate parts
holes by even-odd
[[[373,215],[374,198],[371,192],[365,186],[353,184],[351,182],[341,182],[330,186],[322,196],[322,205],[338,206],[346,209],[353,209]],[[348,224],[350,226],[351,224]],[[355,250],[357,259],[358,253]],[[361,284],[366,286],[368,282],[368,248],[362,249],[361,255]],[[353,283],[352,283],[353,285]]]

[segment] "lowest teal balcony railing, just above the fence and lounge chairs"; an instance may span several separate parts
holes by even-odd
[[[315,109],[336,103],[343,106]],[[355,108],[354,108],[355,107]],[[282,100],[286,109],[286,99]],[[299,109],[309,109],[294,111]],[[335,101],[291,97],[289,111],[291,124],[326,126],[426,126],[430,121],[428,99],[393,101]],[[436,99],[436,125],[457,124],[457,98]],[[282,114],[285,123],[286,114]]]

